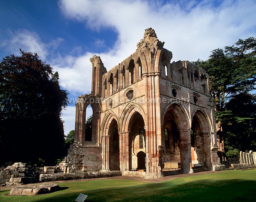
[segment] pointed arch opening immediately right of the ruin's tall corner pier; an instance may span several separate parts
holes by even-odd
[[[189,122],[183,109],[172,104],[163,117],[161,157],[164,172],[192,172],[188,129]]]

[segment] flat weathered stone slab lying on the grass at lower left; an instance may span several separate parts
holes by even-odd
[[[59,185],[56,185],[56,184],[16,187],[10,190],[10,195],[38,195],[38,194],[55,192],[59,188],[60,188]]]

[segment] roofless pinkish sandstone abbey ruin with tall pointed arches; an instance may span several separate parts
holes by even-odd
[[[61,169],[120,170],[146,178],[164,172],[216,170],[220,164],[208,75],[189,61],[173,61],[154,29],[131,56],[107,71],[92,63],[92,89],[76,103],[75,142]],[[92,133],[85,133],[87,106]]]

